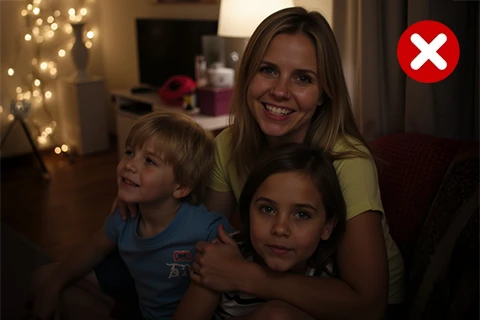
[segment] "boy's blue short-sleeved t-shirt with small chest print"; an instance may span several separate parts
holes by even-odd
[[[215,239],[219,224],[227,232],[233,228],[225,216],[185,202],[167,228],[153,237],[138,235],[138,221],[138,217],[123,221],[117,210],[105,221],[105,234],[117,243],[135,280],[143,317],[170,319],[190,284],[197,242]]]

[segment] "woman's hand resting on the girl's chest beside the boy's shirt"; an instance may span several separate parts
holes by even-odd
[[[220,241],[214,241],[216,243],[197,243],[190,277],[195,283],[217,292],[239,290],[241,266],[249,262],[222,225],[218,227],[218,238]]]

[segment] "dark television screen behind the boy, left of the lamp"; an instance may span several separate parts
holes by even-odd
[[[218,21],[137,19],[136,24],[140,82],[160,87],[174,75],[195,80],[202,36],[216,35]]]

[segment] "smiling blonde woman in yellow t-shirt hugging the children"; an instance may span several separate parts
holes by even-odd
[[[241,259],[231,242],[201,242],[192,280],[269,300],[252,318],[381,319],[386,309],[395,310],[403,300],[403,260],[388,231],[374,160],[351,111],[336,40],[321,14],[288,8],[258,26],[238,68],[231,114],[233,123],[216,138],[205,205],[230,218],[255,160],[278,144],[324,150],[347,206],[336,253],[339,279],[276,273]]]

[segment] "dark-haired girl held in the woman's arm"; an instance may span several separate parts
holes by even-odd
[[[331,258],[344,231],[346,208],[335,169],[322,152],[285,144],[260,159],[245,183],[239,210],[244,258],[279,273],[334,276]],[[224,243],[211,246],[237,246],[225,231],[219,234]],[[261,304],[243,292],[222,294],[192,282],[173,318],[247,317]]]

